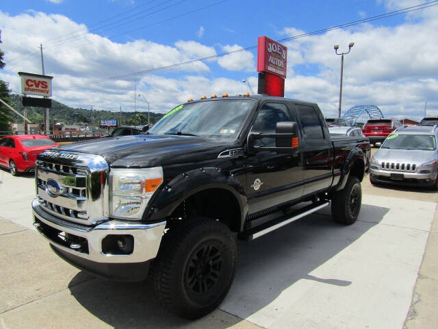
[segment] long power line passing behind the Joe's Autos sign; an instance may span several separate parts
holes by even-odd
[[[360,25],[360,24],[363,24],[363,23],[368,23],[368,22],[371,22],[371,21],[378,21],[380,19],[386,19],[386,18],[391,17],[391,16],[405,14],[407,12],[413,12],[415,10],[421,10],[421,9],[424,9],[424,8],[433,7],[435,5],[438,5],[438,0],[429,1],[429,2],[423,3],[421,5],[413,5],[411,7],[403,8],[403,9],[400,9],[400,10],[394,10],[393,12],[387,12],[385,14],[380,14],[380,15],[369,17],[368,19],[360,19],[360,20],[357,20],[357,21],[349,22],[349,23],[343,23],[343,24],[340,24],[340,25],[335,25],[333,27],[327,27],[325,29],[318,29],[318,30],[315,30],[313,32],[299,34],[297,36],[291,36],[289,38],[283,38],[283,39],[280,39],[280,40],[277,40],[277,41],[278,42],[284,42],[284,41],[294,40],[294,39],[298,39],[298,38],[304,38],[305,36],[313,36],[313,35],[316,35],[316,34],[322,34],[324,32],[330,32],[330,31],[333,31],[335,29],[342,29],[344,27],[351,27],[351,26]],[[54,90],[62,90],[62,89],[77,88],[77,87],[80,87],[80,86],[89,86],[90,84],[98,84],[100,82],[105,82],[105,81],[109,81],[109,80],[116,80],[116,79],[120,79],[120,78],[123,78],[123,77],[131,77],[133,75],[142,75],[142,74],[151,73],[151,72],[155,72],[155,71],[162,71],[162,70],[166,70],[166,69],[172,69],[172,68],[175,68],[177,66],[192,64],[194,62],[204,62],[206,60],[211,60],[211,59],[214,59],[214,58],[219,58],[219,57],[222,57],[222,56],[231,55],[233,53],[240,53],[242,51],[248,51],[248,50],[255,49],[255,48],[257,48],[257,45],[250,46],[250,47],[245,47],[245,48],[242,48],[242,49],[237,49],[235,51],[227,51],[227,52],[219,53],[219,54],[216,54],[216,55],[213,55],[213,56],[207,56],[207,57],[203,57],[203,58],[196,58],[194,60],[188,60],[188,61],[185,61],[185,62],[179,62],[179,63],[170,64],[170,65],[166,65],[166,66],[160,66],[160,67],[157,67],[157,68],[154,68],[154,69],[147,69],[147,70],[144,70],[144,71],[137,71],[137,72],[127,73],[127,74],[123,74],[123,75],[116,75],[114,77],[105,77],[103,79],[92,80],[90,82],[85,82],[83,84],[72,84],[70,86],[53,88],[53,89]]]

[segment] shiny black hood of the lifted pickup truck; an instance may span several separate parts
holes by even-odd
[[[156,167],[217,158],[227,146],[196,136],[138,135],[83,141],[60,149],[98,154],[111,167]]]

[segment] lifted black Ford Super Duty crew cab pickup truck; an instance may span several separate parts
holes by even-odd
[[[329,204],[354,223],[369,158],[367,138],[332,141],[315,103],[224,94],[177,106],[146,135],[40,154],[34,226],[95,276],[149,273],[159,302],[194,319],[227,295],[237,239]]]

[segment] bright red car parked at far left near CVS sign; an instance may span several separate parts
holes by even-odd
[[[16,176],[19,172],[34,171],[38,154],[60,146],[44,135],[15,135],[0,139],[0,166]]]

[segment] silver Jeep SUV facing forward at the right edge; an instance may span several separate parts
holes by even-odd
[[[437,127],[402,127],[371,157],[370,181],[438,188]]]

